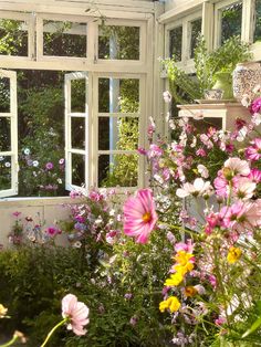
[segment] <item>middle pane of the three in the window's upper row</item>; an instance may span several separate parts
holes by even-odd
[[[43,55],[86,57],[87,24],[43,21]]]

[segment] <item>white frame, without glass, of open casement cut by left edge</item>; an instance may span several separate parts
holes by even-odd
[[[17,107],[17,73],[14,71],[0,70],[0,77],[10,81],[10,112],[1,113],[1,117],[11,120],[11,150],[0,151],[0,156],[11,157],[11,188],[0,190],[0,198],[18,194],[18,107]]]

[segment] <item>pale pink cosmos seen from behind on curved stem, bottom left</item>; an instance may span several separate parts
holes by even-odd
[[[73,330],[79,336],[86,334],[86,329],[83,329],[83,327],[88,324],[88,307],[79,302],[75,295],[67,294],[63,297],[62,316],[69,318],[69,330]]]

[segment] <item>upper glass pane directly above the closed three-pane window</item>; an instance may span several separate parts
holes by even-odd
[[[98,57],[139,60],[139,27],[100,25]]]

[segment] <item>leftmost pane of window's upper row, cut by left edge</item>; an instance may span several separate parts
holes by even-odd
[[[0,54],[28,55],[28,22],[0,19]]]

